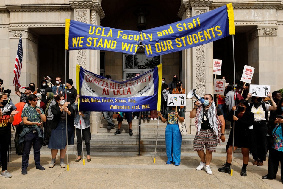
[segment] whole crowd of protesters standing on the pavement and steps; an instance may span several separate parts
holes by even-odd
[[[136,75],[138,77],[139,74]],[[107,79],[112,79],[110,75]],[[226,80],[226,77],[222,77]],[[90,112],[78,111],[79,95],[73,87],[72,79],[66,81],[66,86],[61,83],[61,78],[56,77],[55,84],[52,77],[45,76],[37,88],[34,83],[25,87],[25,91],[16,90],[15,94],[20,97],[19,103],[15,105],[7,94],[0,93],[0,164],[2,165],[1,176],[10,178],[12,175],[7,171],[7,151],[10,143],[10,123],[16,128],[15,147],[16,153],[22,155],[22,174],[27,174],[30,149],[33,146],[36,169],[45,170],[40,165],[40,148],[48,145],[51,149],[51,163],[49,168],[56,164],[56,156],[60,150],[60,166],[66,167],[64,163],[66,145],[74,144],[74,133],[76,131],[78,156],[76,162],[82,159],[82,142],[85,140],[87,150],[87,161],[90,159]],[[3,80],[0,79],[0,86]],[[243,85],[244,84],[244,85]],[[167,106],[168,94],[185,94],[182,81],[177,75],[173,75],[172,82],[166,83],[162,78],[161,111],[150,112],[150,120],[161,119],[167,122],[165,131],[167,164],[173,163],[178,166],[181,162],[182,135],[179,132],[178,120],[185,120],[183,106]],[[66,91],[65,91],[66,90]],[[234,90],[236,92],[236,103],[234,104]],[[67,99],[64,97],[66,92]],[[250,99],[251,98],[251,99]],[[216,100],[217,99],[217,100]],[[248,103],[250,99],[251,103]],[[235,114],[234,114],[235,111]],[[268,174],[262,179],[274,179],[279,166],[283,163],[283,100],[279,91],[267,94],[267,97],[255,97],[249,93],[249,85],[239,80],[226,83],[225,94],[205,94],[203,101],[196,101],[190,112],[190,118],[196,118],[197,132],[194,139],[194,150],[198,152],[201,159],[197,170],[205,169],[212,174],[209,163],[212,160],[212,152],[215,151],[220,139],[225,142],[225,121],[231,122],[231,132],[226,145],[227,159],[218,171],[231,173],[232,152],[241,148],[243,154],[243,166],[241,176],[247,176],[247,165],[249,153],[254,159],[253,165],[262,166],[269,151]],[[124,113],[117,112],[118,130],[120,134],[123,119],[129,124],[129,135],[132,136],[132,120],[137,119],[140,112]],[[108,122],[107,129],[115,127],[112,121],[113,112],[103,112]],[[68,122],[66,122],[66,119]],[[143,119],[148,119],[148,112],[143,112]],[[66,125],[67,123],[67,125]],[[66,131],[66,126],[68,130]],[[234,130],[233,130],[234,128]],[[43,131],[44,129],[44,131]],[[234,132],[233,132],[234,131]],[[67,133],[66,133],[67,132]],[[66,138],[68,135],[68,141]],[[234,135],[234,148],[232,149]],[[8,137],[7,137],[8,136]],[[58,138],[60,140],[58,140]],[[274,139],[274,140],[272,140]],[[204,152],[204,145],[206,152]],[[283,175],[281,175],[283,182]]]

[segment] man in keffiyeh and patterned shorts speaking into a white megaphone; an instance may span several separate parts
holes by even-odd
[[[195,89],[193,90],[193,95],[198,99],[190,112],[191,119],[196,117],[197,128],[193,147],[201,158],[196,170],[204,168],[207,174],[212,174],[209,164],[212,160],[212,152],[215,152],[217,144],[220,143],[219,139],[225,142],[225,120],[220,109],[215,106],[211,94],[205,94],[203,98],[200,98],[195,94]]]

